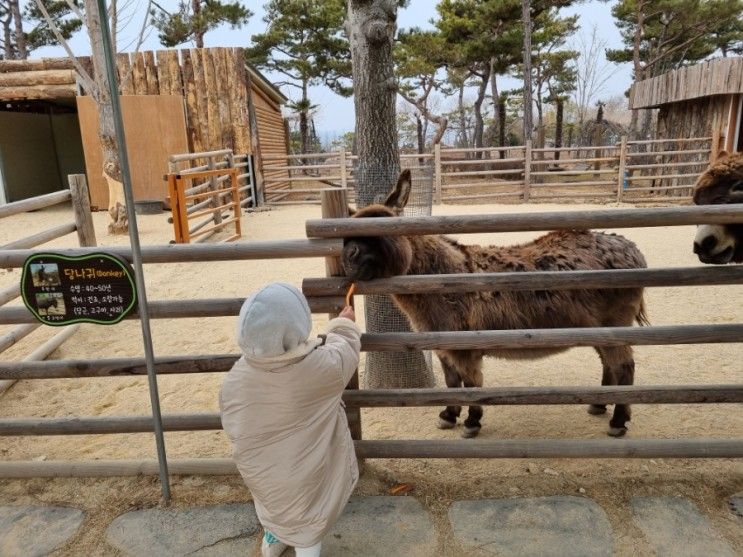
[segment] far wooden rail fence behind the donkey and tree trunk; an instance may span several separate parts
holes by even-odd
[[[593,202],[674,203],[709,164],[712,138],[627,141],[617,145],[476,149],[442,148],[403,154],[402,168],[429,170],[435,203]],[[264,157],[269,205],[318,204],[323,191],[355,195],[357,157],[344,151]]]

